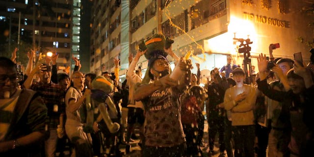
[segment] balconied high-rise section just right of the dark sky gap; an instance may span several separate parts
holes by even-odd
[[[94,0],[91,11],[91,72],[111,72],[113,58],[120,58],[120,32],[119,0]]]

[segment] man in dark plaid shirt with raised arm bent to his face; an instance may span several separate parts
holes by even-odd
[[[39,74],[40,82],[32,84],[32,80],[35,74]],[[30,88],[39,93],[42,97],[45,105],[48,108],[50,131],[49,138],[45,141],[45,154],[46,157],[54,157],[56,151],[56,145],[58,141],[57,126],[60,126],[61,132],[63,129],[63,116],[65,114],[64,105],[64,89],[51,81],[51,67],[46,64],[40,64],[36,66],[29,74],[29,77],[24,82],[26,89]]]

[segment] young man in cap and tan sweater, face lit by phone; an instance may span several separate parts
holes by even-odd
[[[235,157],[254,157],[255,123],[253,106],[255,88],[244,84],[245,73],[241,68],[232,72],[236,85],[228,88],[224,107],[229,111],[235,139]],[[231,114],[230,114],[231,112]]]

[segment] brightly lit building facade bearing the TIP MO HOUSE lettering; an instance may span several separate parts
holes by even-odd
[[[239,46],[242,39],[253,41],[246,45],[251,49],[252,65],[257,64],[259,53],[268,54],[269,44],[280,44],[273,51],[275,57],[293,58],[294,52],[302,52],[305,62],[309,61],[309,50],[313,48],[314,31],[308,26],[313,17],[303,12],[312,4],[306,1],[121,0],[119,7],[114,5],[119,0],[102,4],[96,1],[95,12],[106,9],[104,16],[99,17],[103,21],[94,20],[93,24],[91,43],[95,46],[91,47],[91,70],[94,71],[112,71],[112,58],[118,56],[123,76],[129,53],[135,54],[139,42],[155,33],[174,39],[172,48],[179,56],[192,51],[191,59],[202,63],[201,69],[209,70],[225,65],[228,54],[234,57],[235,64],[241,65],[243,53],[238,49],[243,48]],[[144,56],[138,66],[147,67]]]

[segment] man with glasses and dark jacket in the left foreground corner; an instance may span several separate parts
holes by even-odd
[[[39,157],[47,107],[32,90],[18,88],[16,64],[0,57],[0,157]]]

